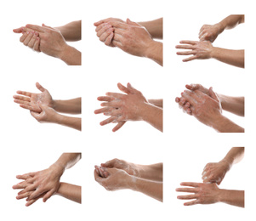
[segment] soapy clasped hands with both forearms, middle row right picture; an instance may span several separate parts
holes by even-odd
[[[208,127],[213,127],[218,132],[244,132],[242,127],[222,115],[223,109],[244,116],[244,98],[215,94],[213,88],[204,88],[200,84],[191,84],[185,87],[188,90],[185,90],[180,98],[175,99],[179,108],[184,112],[195,116],[197,120]]]

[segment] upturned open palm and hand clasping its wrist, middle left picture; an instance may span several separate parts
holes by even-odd
[[[14,102],[20,104],[20,107],[31,111],[31,116],[37,122],[55,122],[58,113],[54,111],[54,99],[48,90],[38,82],[36,87],[41,91],[40,94],[17,91],[19,95],[14,95]]]

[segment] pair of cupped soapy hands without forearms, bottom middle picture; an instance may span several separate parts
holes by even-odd
[[[134,163],[113,159],[101,166],[95,166],[94,178],[105,190],[129,189],[130,183],[139,176],[139,170]]]

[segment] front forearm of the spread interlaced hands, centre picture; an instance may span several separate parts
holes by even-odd
[[[140,110],[141,119],[162,132],[162,108],[149,103]]]

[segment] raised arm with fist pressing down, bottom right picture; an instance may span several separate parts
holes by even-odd
[[[208,163],[202,172],[203,182],[221,184],[225,174],[233,164],[241,161],[243,154],[244,147],[233,147],[221,161]]]

